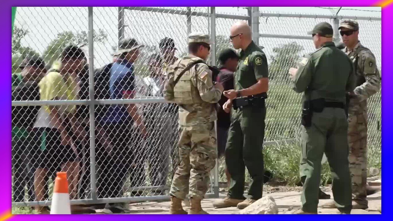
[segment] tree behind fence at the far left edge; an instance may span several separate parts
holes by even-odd
[[[39,53],[33,50],[30,47],[24,47],[21,44],[22,39],[29,33],[28,30],[24,28],[20,28],[15,26],[14,33],[12,37],[12,46],[11,46],[11,56],[12,56],[12,63],[11,68],[12,72],[16,72],[22,63],[23,59],[27,56],[37,55]]]

